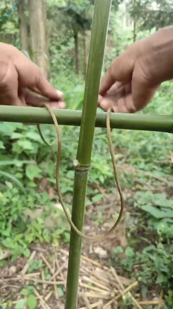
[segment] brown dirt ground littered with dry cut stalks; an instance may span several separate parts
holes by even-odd
[[[120,211],[120,199],[117,194],[107,194],[100,189],[102,200],[102,220],[93,221],[91,214],[99,217],[98,205],[88,207],[85,218],[84,233],[99,234],[101,230],[109,229],[115,222]],[[134,192],[124,190],[125,200],[133,197]],[[116,213],[115,213],[116,212]],[[103,223],[104,222],[104,223]],[[131,298],[137,308],[146,308],[146,305],[157,305],[159,295],[151,295],[151,299],[142,300],[140,285],[123,274],[120,269],[111,266],[111,250],[120,245],[128,246],[127,229],[133,224],[130,216],[130,205],[126,203],[123,219],[116,232],[108,240],[101,243],[90,243],[86,240],[82,244],[82,259],[78,288],[78,309],[112,309],[121,308],[124,294]],[[25,298],[21,290],[31,287],[37,298],[36,308],[63,309],[65,303],[66,277],[68,266],[67,244],[61,243],[58,247],[35,243],[32,244],[29,259],[18,258],[15,262],[9,260],[8,267],[1,269],[0,295],[4,302],[8,301],[7,308],[15,308],[19,299]],[[32,265],[32,269],[30,268]],[[119,307],[120,306],[120,307]],[[24,307],[25,309],[26,307]],[[127,307],[133,308],[133,307]]]

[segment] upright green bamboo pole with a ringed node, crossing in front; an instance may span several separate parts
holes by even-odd
[[[103,67],[111,0],[95,0],[78,151],[74,160],[72,221],[83,229],[98,93]],[[65,309],[76,309],[82,239],[71,229]]]

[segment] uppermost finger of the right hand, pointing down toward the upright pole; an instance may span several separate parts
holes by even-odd
[[[102,79],[100,95],[105,96],[115,82],[121,82],[122,84],[130,82],[136,58],[133,47],[134,44],[112,62],[107,74]]]

